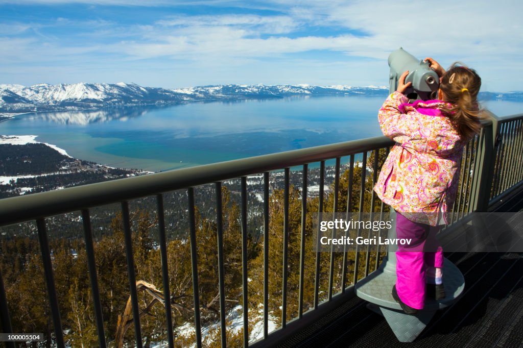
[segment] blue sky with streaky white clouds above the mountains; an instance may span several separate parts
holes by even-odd
[[[403,47],[523,90],[523,2],[0,0],[0,84],[388,85]]]

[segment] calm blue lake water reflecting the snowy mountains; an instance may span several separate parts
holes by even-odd
[[[0,134],[38,135],[71,156],[159,171],[381,135],[384,97],[296,97],[169,107],[42,112],[0,123]],[[492,101],[498,115],[523,102]]]

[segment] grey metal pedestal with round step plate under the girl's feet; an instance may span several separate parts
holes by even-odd
[[[392,215],[391,215],[392,216]],[[389,230],[388,238],[396,238],[395,219]],[[438,309],[448,307],[456,300],[465,287],[465,280],[460,270],[449,260],[444,260],[444,285],[447,297],[442,300],[425,300],[425,307],[416,315],[405,314],[399,303],[392,297],[391,291],[396,284],[396,246],[389,246],[388,256],[378,270],[360,280],[354,286],[356,295],[370,303],[367,307],[382,315],[400,342],[412,342],[425,329]]]

